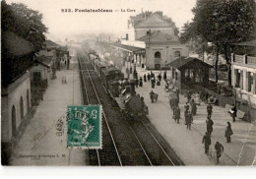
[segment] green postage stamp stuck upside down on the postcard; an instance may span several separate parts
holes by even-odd
[[[67,147],[101,149],[101,106],[67,107]]]

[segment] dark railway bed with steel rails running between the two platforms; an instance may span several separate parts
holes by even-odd
[[[152,126],[148,127],[147,119],[125,119],[116,107],[109,106],[113,101],[102,90],[94,67],[83,53],[83,49],[78,50],[85,104],[101,104],[104,121],[103,148],[90,150],[90,164],[183,165],[167,143],[158,137],[158,132]]]

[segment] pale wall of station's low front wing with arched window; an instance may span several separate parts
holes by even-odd
[[[160,62],[160,68],[165,67],[175,58],[174,53],[180,52],[180,56],[188,56],[188,48],[182,44],[151,44],[150,48],[146,47],[146,65],[149,69],[155,69],[155,64]],[[155,58],[156,52],[160,52],[160,59]]]

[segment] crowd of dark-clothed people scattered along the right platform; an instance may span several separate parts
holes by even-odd
[[[138,77],[136,78],[138,80]],[[138,84],[140,87],[143,87],[143,81],[145,83],[150,82],[152,89],[155,89],[156,85],[160,86],[161,83],[161,74],[156,76],[153,72],[144,74],[143,79],[140,77],[140,80],[138,80]],[[181,110],[179,107],[179,89],[169,89],[169,82],[166,80],[166,73],[163,73],[163,82],[165,82],[165,89],[166,91],[172,92],[171,97],[169,97],[169,104],[170,108],[172,109],[173,116],[172,118],[175,120],[177,124],[180,124],[180,118],[181,118]],[[138,86],[138,85],[137,85]],[[136,86],[136,87],[137,87]],[[173,92],[175,95],[173,95]],[[150,95],[152,98],[152,102],[154,102],[154,98],[152,97],[155,92],[152,90]],[[173,97],[174,96],[174,97]],[[197,106],[200,105],[202,102],[208,103],[206,107],[206,132],[203,136],[202,143],[205,146],[205,153],[209,153],[210,146],[212,145],[212,133],[214,131],[214,121],[212,119],[213,116],[213,104],[214,102],[209,101],[209,99],[212,97],[207,91],[203,92],[197,92],[193,94],[191,91],[188,91],[186,93],[187,101],[184,105],[184,119],[185,119],[185,125],[187,130],[191,130],[191,125],[193,124],[193,118],[197,115]],[[213,98],[213,97],[212,97]],[[235,122],[236,117],[236,108],[233,105],[232,108],[229,111],[230,116]],[[231,135],[233,134],[231,129],[231,124],[227,122],[227,126],[225,128],[224,137],[226,138],[226,143],[231,143]],[[222,153],[224,152],[224,146],[220,142],[216,142],[215,144],[215,150],[216,150],[216,162],[220,162],[220,157],[222,156]]]

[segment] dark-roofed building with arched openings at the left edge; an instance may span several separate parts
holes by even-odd
[[[25,129],[31,110],[30,69],[35,49],[11,31],[2,33],[1,136],[2,150]],[[8,149],[7,149],[8,151]]]

